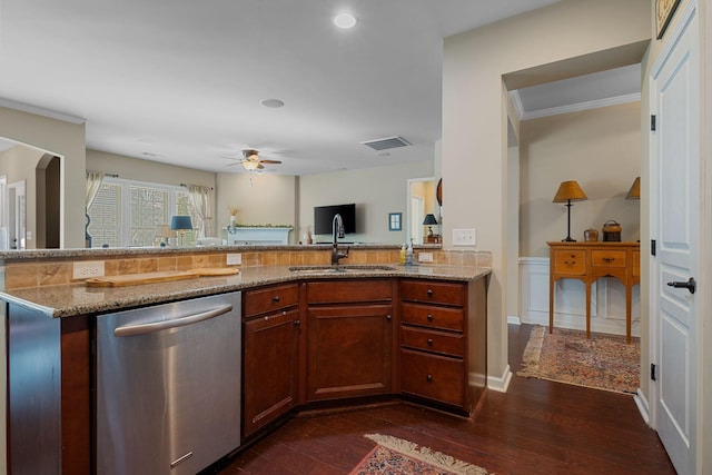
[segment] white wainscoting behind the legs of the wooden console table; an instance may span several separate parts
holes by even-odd
[[[586,287],[560,279],[554,288],[554,327],[586,329]],[[633,287],[632,335],[640,336],[640,285]],[[520,258],[520,320],[548,326],[548,258]],[[625,335],[625,286],[602,277],[591,287],[591,331]]]

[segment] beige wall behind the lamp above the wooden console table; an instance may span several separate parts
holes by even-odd
[[[622,240],[640,238],[640,200],[625,199],[641,174],[640,102],[524,120],[520,131],[520,256],[547,257],[546,241],[566,237],[566,206],[552,202],[565,180],[589,197],[572,204],[572,238],[582,241],[609,219],[621,225]]]

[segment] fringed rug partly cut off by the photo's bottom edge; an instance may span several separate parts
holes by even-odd
[[[376,447],[349,475],[487,475],[487,471],[403,438],[366,434]]]

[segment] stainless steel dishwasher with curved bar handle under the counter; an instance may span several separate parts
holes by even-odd
[[[97,318],[97,473],[195,474],[240,445],[240,293]]]

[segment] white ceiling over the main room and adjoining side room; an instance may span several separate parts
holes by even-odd
[[[91,149],[218,172],[244,172],[226,156],[246,147],[285,175],[428,160],[443,38],[554,2],[3,0],[0,106],[86,120]],[[332,23],[343,10],[354,29]],[[522,112],[576,88],[522,90]],[[393,136],[412,146],[362,145]]]

